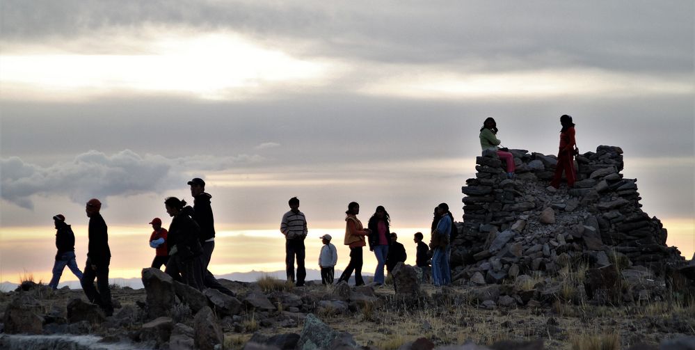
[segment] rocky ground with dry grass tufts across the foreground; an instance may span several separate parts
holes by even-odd
[[[524,285],[440,288],[413,283],[413,268],[399,271],[395,286],[376,288],[222,280],[235,297],[210,289],[200,294],[160,271],[145,271],[146,289],[113,288],[118,306],[113,317],[84,303],[80,290],[52,291],[31,283],[23,286],[26,291],[1,294],[0,310],[5,333],[97,335],[102,344],[126,343],[131,349],[432,349],[467,342],[452,349],[695,346],[695,303],[679,292],[660,301],[596,305],[544,294],[543,285],[552,281],[537,280],[524,305],[510,296],[527,289]],[[174,296],[168,302],[167,286]],[[3,349],[26,349],[7,338],[0,335]],[[679,338],[690,348],[668,347],[667,341]]]

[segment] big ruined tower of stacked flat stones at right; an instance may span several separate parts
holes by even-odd
[[[600,267],[625,258],[660,274],[685,262],[676,247],[666,246],[659,219],[642,212],[637,180],[621,174],[621,148],[601,145],[575,157],[575,186],[558,191],[546,189],[557,157],[509,152],[515,179],[506,177],[496,152],[484,152],[476,158],[476,177],[461,189],[454,279],[501,283],[521,274],[552,276],[577,260]]]

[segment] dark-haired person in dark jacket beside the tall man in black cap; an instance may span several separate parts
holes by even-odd
[[[168,253],[166,272],[175,280],[202,291],[202,247],[200,246],[200,227],[193,221],[191,207],[185,207],[186,201],[175,197],[164,201],[166,212],[172,217],[169,225]],[[191,208],[191,209],[189,209]]]

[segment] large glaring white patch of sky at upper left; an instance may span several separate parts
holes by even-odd
[[[227,33],[167,35],[136,47],[118,54],[47,48],[44,53],[2,55],[3,99],[81,100],[112,92],[166,92],[237,100],[287,81],[320,84],[328,69],[326,63],[293,58]]]

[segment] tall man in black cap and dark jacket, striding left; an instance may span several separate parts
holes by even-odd
[[[212,207],[210,205],[212,196],[205,192],[205,181],[200,177],[195,177],[188,184],[191,186],[191,196],[193,196],[193,220],[200,226],[202,264],[205,271],[203,282],[205,287],[214,288],[224,294],[234,296],[234,293],[221,285],[207,269],[212,257],[212,251],[215,250],[215,218],[212,215]]]

